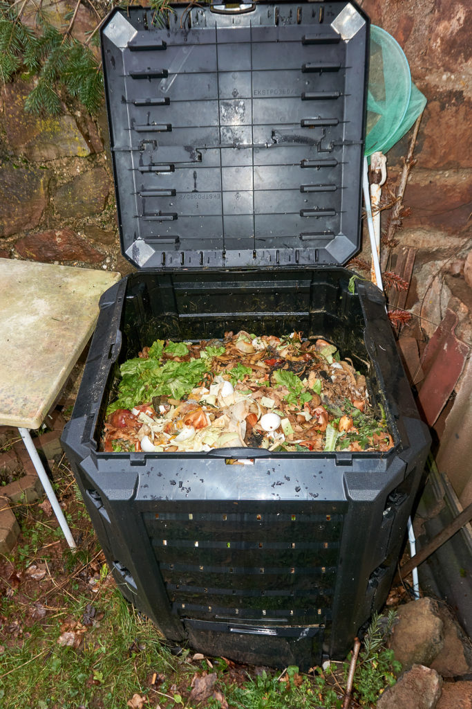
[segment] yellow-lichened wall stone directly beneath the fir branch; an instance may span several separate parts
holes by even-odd
[[[33,87],[33,82],[21,81],[5,86],[5,130],[13,151],[38,162],[90,155],[84,135],[65,105],[61,116],[35,116],[25,111],[25,99]]]

